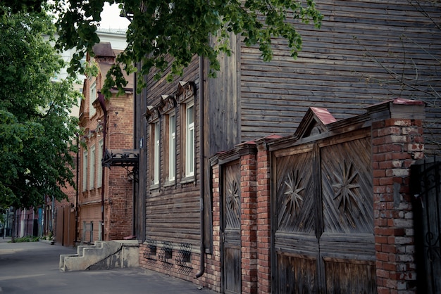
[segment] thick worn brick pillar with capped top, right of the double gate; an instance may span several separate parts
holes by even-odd
[[[415,293],[410,165],[423,158],[424,104],[395,99],[368,108],[372,118],[374,234],[379,294]]]

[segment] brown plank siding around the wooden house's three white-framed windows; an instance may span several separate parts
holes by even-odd
[[[195,158],[197,169],[195,179],[199,178],[199,63],[195,57],[189,67],[185,69],[182,77],[177,77],[173,82],[167,82],[166,77],[160,80],[153,78],[153,72],[147,78],[147,106],[156,106],[161,100],[161,95],[173,95],[178,90],[179,81],[194,83],[194,106],[195,106]],[[172,241],[175,245],[179,242],[190,243],[197,248],[200,240],[200,203],[199,184],[195,181],[181,183],[182,154],[180,153],[180,141],[182,131],[180,129],[180,105],[175,107],[176,115],[176,175],[175,183],[166,184],[164,169],[164,116],[161,121],[161,168],[159,187],[151,187],[151,173],[147,164],[147,197],[146,197],[146,238],[156,241]],[[149,125],[147,125],[147,162],[151,160],[153,151],[149,150]]]

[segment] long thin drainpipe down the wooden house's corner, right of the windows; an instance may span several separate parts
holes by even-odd
[[[199,272],[196,278],[200,278],[205,271],[205,215],[204,215],[204,195],[205,195],[205,158],[204,158],[204,57],[199,56],[199,165],[200,165],[200,223],[201,223],[201,261]]]

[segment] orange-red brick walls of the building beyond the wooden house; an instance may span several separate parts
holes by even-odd
[[[88,91],[85,91],[87,94]],[[86,98],[87,99],[87,98]],[[86,101],[87,102],[87,101]],[[87,102],[88,103],[88,102]],[[85,103],[85,104],[87,104]],[[88,104],[87,104],[88,105]],[[106,149],[132,149],[133,148],[133,96],[113,97],[106,101],[107,127]],[[97,113],[93,117],[82,121],[81,127],[96,130],[99,123],[104,123],[104,112],[97,106]],[[97,187],[98,169],[101,162],[98,160],[99,140],[103,139],[103,132],[92,134],[90,138],[84,138],[87,149],[95,146],[95,187],[88,191],[82,191],[82,174],[80,164],[80,197],[78,230],[82,238],[83,222],[94,222],[94,241],[101,238],[99,223],[101,222],[101,191],[104,188],[104,240],[120,240],[133,234],[133,195],[132,179],[128,171],[123,167],[104,168],[104,181],[101,187]],[[82,153],[80,153],[82,160]],[[89,155],[90,160],[90,155]],[[90,172],[90,171],[88,171]],[[89,178],[88,178],[89,179]]]

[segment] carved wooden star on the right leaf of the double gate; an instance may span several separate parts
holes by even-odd
[[[355,181],[358,173],[353,171],[352,162],[347,165],[346,162],[343,161],[343,167],[340,163],[338,166],[340,167],[340,173],[334,173],[337,181],[333,184],[335,191],[333,199],[338,201],[338,207],[342,207],[344,211],[348,211],[351,208],[351,200],[356,203],[354,189],[360,187]]]

